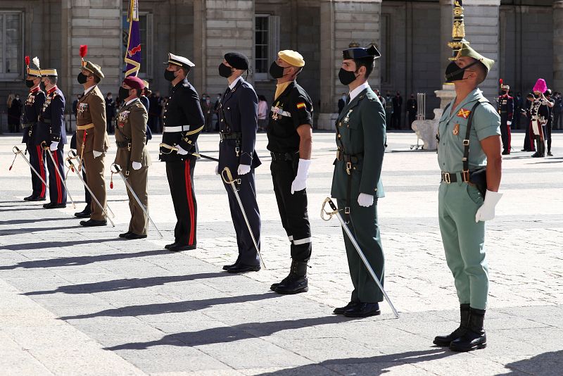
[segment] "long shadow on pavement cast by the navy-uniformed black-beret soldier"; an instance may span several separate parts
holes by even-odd
[[[162,251],[159,251],[162,252]],[[123,280],[93,282],[84,284],[68,284],[54,290],[26,292],[23,295],[46,295],[57,294],[91,294],[94,292],[112,292],[128,289],[142,289],[144,287],[161,286],[166,283],[187,282],[194,280],[204,280],[207,278],[232,276],[227,272],[208,272],[191,275],[172,275],[165,277],[131,278]]]

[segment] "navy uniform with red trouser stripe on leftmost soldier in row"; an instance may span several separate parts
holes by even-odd
[[[43,104],[45,103],[45,93],[36,87],[30,90],[23,106],[23,140],[27,151],[30,153],[30,163],[46,181],[47,173],[45,168],[45,155],[41,148],[42,139],[39,139],[37,130],[37,120],[41,114]],[[31,168],[30,168],[31,170]],[[33,192],[30,196],[32,199],[44,199],[47,187],[31,170],[31,183]]]

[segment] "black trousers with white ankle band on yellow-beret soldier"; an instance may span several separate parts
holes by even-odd
[[[291,183],[297,175],[298,163],[298,158],[293,161],[272,161],[270,170],[281,225],[291,242],[291,258],[295,261],[308,261],[312,246],[307,189],[291,194]]]

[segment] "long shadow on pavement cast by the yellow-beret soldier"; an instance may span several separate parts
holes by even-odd
[[[279,298],[282,295],[274,292],[265,294],[252,294],[241,296],[223,296],[221,298],[174,301],[171,303],[155,303],[139,306],[127,306],[122,308],[106,309],[104,311],[89,313],[87,315],[63,316],[61,320],[80,320],[83,318],[96,317],[124,317],[124,316],[144,316],[144,315],[161,315],[163,313],[184,313],[188,311],[197,311],[212,306],[220,306],[221,304],[243,303],[248,301],[260,301],[264,299]]]

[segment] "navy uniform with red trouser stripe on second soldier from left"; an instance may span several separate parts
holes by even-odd
[[[50,151],[55,164],[49,156],[46,156],[47,168],[49,168],[49,198],[51,203],[66,203],[66,189],[61,177],[55,168],[65,174],[63,148],[66,144],[66,130],[64,122],[65,96],[58,87],[52,87],[47,93],[41,115],[39,115],[39,134],[41,141],[50,146],[51,142],[58,142],[56,151]]]

